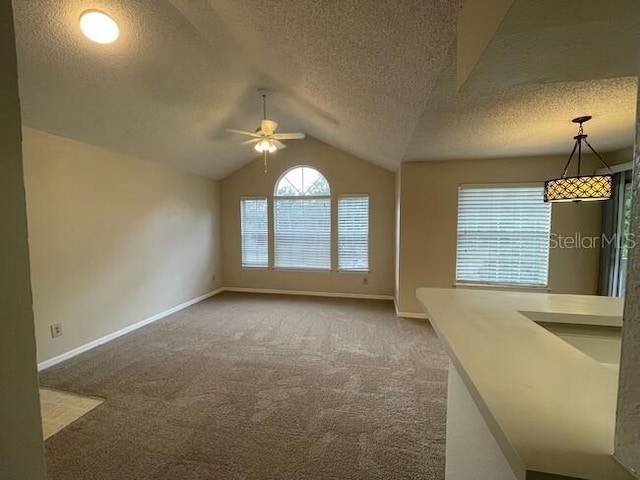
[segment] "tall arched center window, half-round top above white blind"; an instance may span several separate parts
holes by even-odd
[[[287,170],[274,189],[275,267],[331,269],[331,188],[318,170]]]

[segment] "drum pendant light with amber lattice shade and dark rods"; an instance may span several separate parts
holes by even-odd
[[[573,123],[580,125],[578,128],[578,134],[573,137],[575,144],[573,150],[567,160],[567,164],[562,170],[560,178],[553,180],[547,180],[544,182],[544,201],[545,202],[581,202],[581,201],[594,201],[594,200],[609,200],[611,198],[611,190],[613,177],[611,175],[580,175],[580,167],[582,164],[582,143],[589,147],[589,149],[600,159],[602,164],[607,167],[609,172],[611,168],[607,165],[607,162],[600,156],[598,152],[587,141],[588,135],[584,133],[582,124],[591,120],[590,115],[574,118],[571,120]],[[574,154],[578,151],[578,175],[575,177],[568,177],[569,166]]]

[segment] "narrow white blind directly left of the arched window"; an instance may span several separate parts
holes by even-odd
[[[269,227],[266,198],[240,200],[243,267],[269,266]]]

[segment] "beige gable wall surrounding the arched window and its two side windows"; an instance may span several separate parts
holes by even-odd
[[[333,271],[295,272],[241,268],[240,198],[266,196],[273,202],[276,180],[288,168],[309,165],[317,168],[329,181],[333,196],[332,225]],[[327,144],[307,138],[288,142],[285,150],[269,157],[264,172],[262,159],[256,159],[221,182],[224,251],[224,280],[227,287],[282,289],[330,293],[393,295],[394,277],[394,174],[369,162],[349,155]],[[362,273],[335,271],[337,195],[368,193],[370,195],[368,285]],[[271,232],[273,235],[273,232]],[[270,242],[273,245],[273,241]],[[271,252],[273,262],[273,252]]]

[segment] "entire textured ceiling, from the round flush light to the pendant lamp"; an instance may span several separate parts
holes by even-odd
[[[516,0],[458,92],[460,3],[14,0],[23,121],[213,178],[255,158],[225,128],[258,126],[260,86],[281,131],[389,169],[565,152],[585,113],[600,150],[632,143],[640,2]],[[88,8],[116,43],[82,36]]]

